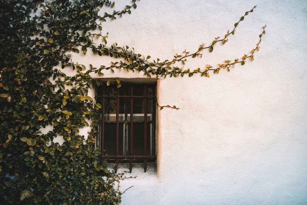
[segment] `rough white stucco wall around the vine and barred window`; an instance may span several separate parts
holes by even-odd
[[[116,10],[130,1],[116,1]],[[232,30],[235,35],[186,68],[217,66],[249,54],[267,25],[254,61],[158,81],[157,171],[134,168],[122,181],[122,204],[307,204],[307,2],[137,1],[137,9],[103,24],[108,42],[134,47],[152,59],[195,51]],[[75,56],[79,63],[108,59]],[[142,73],[105,73],[142,78]],[[92,92],[93,95],[93,92]],[[130,176],[130,174],[127,174]]]

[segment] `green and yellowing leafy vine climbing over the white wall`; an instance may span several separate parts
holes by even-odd
[[[103,13],[113,7],[109,0],[66,1],[0,1],[0,201],[3,204],[117,204],[122,193],[116,183],[125,178],[107,169],[95,149],[99,103],[88,95],[93,84],[110,81],[93,79],[91,73],[103,77],[104,70],[122,69],[143,72],[148,77],[178,77],[196,73],[210,77],[209,72],[230,70],[254,59],[259,41],[249,55],[226,60],[218,67],[184,69],[188,58],[200,57],[205,50],[213,52],[224,44],[246,15],[224,37],[209,46],[202,44],[195,52],[176,54],[172,60],[151,60],[128,46],[107,45],[103,23],[130,14],[137,8],[135,0],[123,10]],[[101,43],[100,43],[101,42]],[[70,53],[94,53],[119,59],[110,66],[74,63]],[[176,64],[177,63],[177,64]],[[63,69],[76,71],[73,76]],[[115,79],[118,87],[119,79]],[[160,106],[164,107],[172,106]],[[176,108],[173,106],[172,108]],[[178,109],[178,108],[176,108]],[[41,128],[52,126],[48,133]],[[88,136],[79,130],[92,127]],[[64,139],[54,143],[55,137]]]

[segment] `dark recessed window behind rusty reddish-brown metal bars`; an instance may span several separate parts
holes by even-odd
[[[99,139],[97,145],[102,158],[119,163],[156,160],[156,85],[122,83],[102,85],[97,90],[100,109]]]

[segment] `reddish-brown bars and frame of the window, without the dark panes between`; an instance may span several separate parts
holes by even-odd
[[[130,91],[130,95],[128,95],[128,93],[125,93],[124,95],[121,95],[120,93],[120,90],[121,88],[123,89],[123,87],[127,87],[128,86],[128,89]],[[142,87],[143,88],[143,95],[134,95],[134,88],[136,87]],[[143,161],[143,165],[144,165],[144,172],[146,172],[147,170],[147,162],[156,162],[156,159],[157,159],[157,149],[156,149],[156,144],[157,144],[157,141],[156,141],[156,112],[157,112],[157,106],[156,106],[156,102],[157,102],[157,91],[156,91],[156,88],[157,88],[157,84],[156,83],[140,83],[140,84],[137,84],[137,83],[123,83],[122,82],[122,87],[120,88],[117,88],[116,90],[116,95],[108,95],[106,93],[106,88],[107,88],[107,85],[105,83],[103,83],[103,85],[101,86],[98,86],[97,87],[97,94],[96,94],[96,100],[97,102],[101,102],[101,106],[102,108],[99,109],[99,116],[100,117],[100,122],[99,122],[99,128],[98,128],[98,132],[99,132],[99,138],[97,140],[97,146],[99,146],[99,149],[102,151],[102,155],[100,156],[101,157],[101,160],[103,161],[105,158],[109,159],[110,161],[114,161],[115,162],[115,172],[117,172],[117,169],[118,169],[118,164],[119,162],[120,163],[129,163],[129,171],[131,173],[132,171],[132,165],[133,163],[136,163],[136,162],[142,162]],[[148,91],[148,88],[151,88],[152,89],[152,95],[149,95],[147,93]],[[107,153],[105,153],[105,140],[106,140],[106,136],[105,136],[105,124],[108,123],[108,120],[105,120],[105,106],[106,106],[106,99],[107,98],[115,98],[116,99],[116,120],[115,120],[115,123],[116,123],[116,133],[115,133],[115,155],[107,155]],[[125,120],[124,121],[121,121],[119,120],[119,116],[120,114],[122,113],[119,113],[119,100],[120,99],[130,99],[130,120],[127,121],[127,116],[125,116]],[[125,99],[125,106],[127,106],[127,101]],[[133,107],[132,105],[134,105],[134,100],[135,99],[144,99],[144,104],[143,104],[143,109],[144,109],[144,119],[143,120],[134,120],[133,116],[134,114],[134,110],[133,110]],[[147,106],[148,106],[148,100],[152,100],[152,113],[148,113],[148,110],[147,110]],[[126,109],[126,108],[125,108]],[[127,114],[127,112],[125,111],[125,115]],[[148,114],[151,114],[151,120],[149,118],[148,120]],[[138,114],[139,115],[139,114]],[[107,121],[107,122],[106,122]],[[129,123],[130,124],[130,136],[129,136],[129,140],[130,140],[130,148],[129,148],[129,155],[120,155],[119,154],[119,124],[120,123]],[[133,151],[134,151],[134,148],[133,148],[133,125],[135,123],[144,123],[144,138],[143,138],[143,141],[144,141],[144,154],[143,155],[134,155],[133,154]],[[151,123],[152,124],[152,144],[150,144],[150,149],[151,149],[151,153],[150,155],[148,155],[147,153],[147,138],[148,138],[148,132],[147,132],[147,126],[148,126],[148,123]],[[123,136],[125,137],[125,136]],[[123,145],[125,146],[125,145]]]

